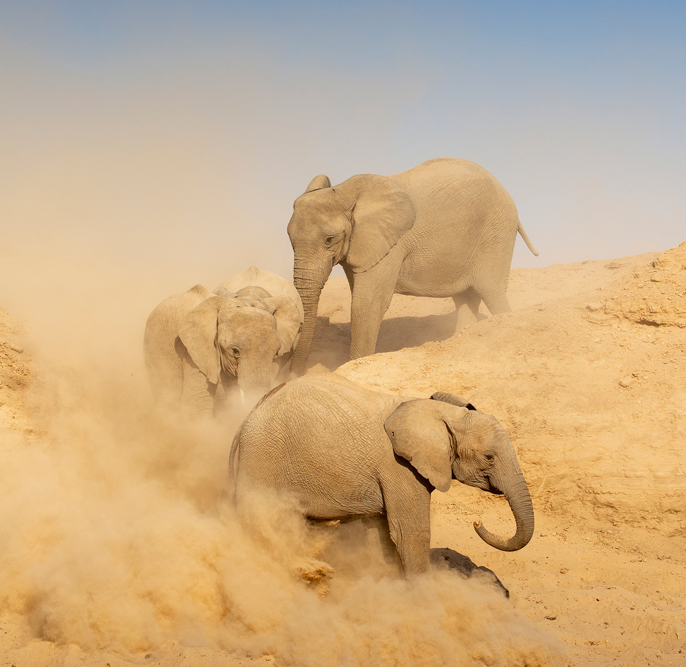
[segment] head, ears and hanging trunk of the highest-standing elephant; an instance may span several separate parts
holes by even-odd
[[[302,374],[314,336],[319,296],[335,264],[363,272],[388,254],[414,224],[414,203],[389,178],[362,174],[331,187],[316,176],[293,205],[288,235],[293,281],[305,309],[291,370]]]

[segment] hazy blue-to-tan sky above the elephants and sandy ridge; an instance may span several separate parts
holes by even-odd
[[[683,1],[4,2],[1,252],[175,289],[289,275],[313,176],[440,156],[510,191],[541,252],[520,240],[514,266],[669,248],[685,35]]]

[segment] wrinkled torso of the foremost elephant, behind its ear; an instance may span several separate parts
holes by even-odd
[[[351,503],[353,513],[381,511],[379,465],[392,456],[383,431],[386,397],[333,376],[288,382],[248,415],[239,441],[239,486],[294,495],[318,518],[348,515]]]

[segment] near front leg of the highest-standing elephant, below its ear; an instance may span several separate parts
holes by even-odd
[[[386,255],[379,264],[356,273],[350,311],[350,358],[374,354],[381,320],[388,310],[398,281],[401,261]]]

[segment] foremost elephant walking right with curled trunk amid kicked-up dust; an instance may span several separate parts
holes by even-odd
[[[519,550],[534,532],[508,434],[495,417],[448,393],[416,399],[371,391],[337,373],[298,377],[248,414],[233,439],[228,475],[239,511],[257,492],[292,499],[316,522],[385,515],[410,575],[429,569],[431,492],[448,491],[453,479],[508,500],[514,536],[474,524],[490,546]]]

